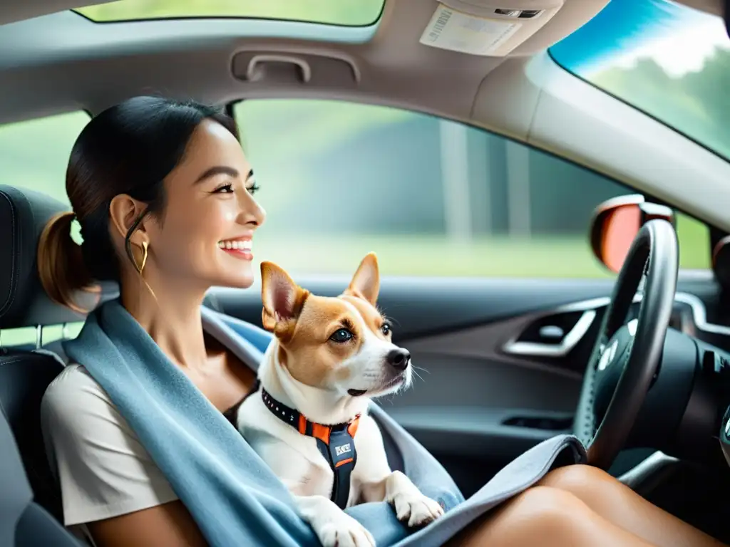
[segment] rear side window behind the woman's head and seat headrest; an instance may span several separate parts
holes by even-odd
[[[42,117],[0,125],[0,184],[36,190],[68,203],[66,166],[82,128],[88,123],[85,112]],[[43,329],[43,342],[62,336],[73,337],[80,325]],[[35,344],[35,328],[7,329],[0,332],[0,344]]]

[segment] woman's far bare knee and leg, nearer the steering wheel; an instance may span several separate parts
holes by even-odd
[[[589,465],[558,468],[539,484],[573,494],[604,519],[656,546],[724,546],[648,502],[608,473]]]

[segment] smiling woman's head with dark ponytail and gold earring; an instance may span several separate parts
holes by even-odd
[[[196,154],[188,154],[193,146]],[[188,266],[196,275],[225,271],[218,284],[249,286],[250,239],[265,216],[251,198],[252,175],[234,120],[220,109],[155,97],[112,106],[85,126],[72,148],[66,193],[73,212],[56,215],[40,237],[43,287],[55,302],[78,309],[74,295],[96,290],[97,282],[119,282],[122,294],[140,281],[150,289],[150,266],[158,259],[178,274]],[[166,190],[170,179],[176,192]],[[74,220],[82,245],[69,237]],[[162,235],[147,241],[148,231],[169,233],[179,245]],[[231,255],[248,259],[247,268],[229,262]]]

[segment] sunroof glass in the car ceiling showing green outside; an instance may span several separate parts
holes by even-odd
[[[367,26],[380,18],[385,0],[120,0],[78,8],[95,23],[142,19],[279,19]]]

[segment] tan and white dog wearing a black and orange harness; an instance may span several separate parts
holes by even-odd
[[[410,386],[407,350],[393,344],[377,310],[374,253],[337,298],[312,295],[273,263],[261,264],[264,328],[274,334],[258,391],[236,416],[238,430],[293,494],[324,547],[370,547],[374,538],[343,509],[387,501],[408,527],[444,513],[388,465],[368,406]]]

